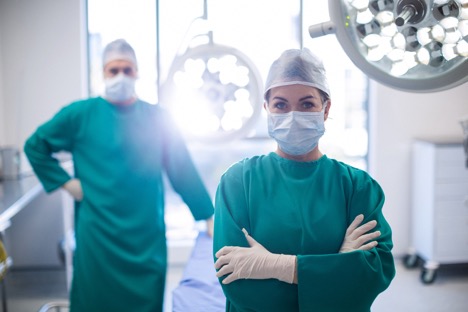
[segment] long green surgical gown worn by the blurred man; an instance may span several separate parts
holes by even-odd
[[[163,172],[195,220],[214,209],[168,113],[140,100],[130,106],[101,97],[77,101],[40,126],[24,151],[47,192],[70,179],[55,152],[71,152],[81,181],[71,311],[162,311]]]

